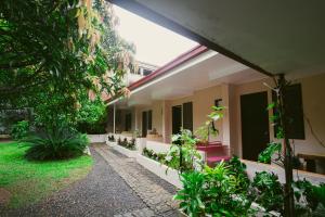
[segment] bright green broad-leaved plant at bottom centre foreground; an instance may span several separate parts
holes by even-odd
[[[183,189],[174,199],[190,216],[247,216],[251,212],[251,201],[236,193],[236,177],[225,163],[181,176]]]

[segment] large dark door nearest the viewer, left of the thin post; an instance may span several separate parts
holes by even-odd
[[[243,158],[257,161],[270,142],[268,92],[240,95]]]

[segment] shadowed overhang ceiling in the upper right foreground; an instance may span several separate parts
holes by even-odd
[[[325,1],[109,1],[266,74],[325,71]]]

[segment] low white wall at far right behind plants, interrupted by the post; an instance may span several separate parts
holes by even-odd
[[[262,164],[262,163],[257,163],[257,162],[251,162],[251,161],[246,161],[246,159],[242,159],[242,162],[247,165],[247,174],[250,179],[252,179],[255,177],[255,174],[257,171],[269,171],[269,173],[276,174],[278,176],[278,180],[283,183],[285,182],[284,168],[282,168],[277,165]],[[298,176],[297,176],[297,171],[298,171]],[[298,177],[301,180],[303,178],[306,178],[307,180],[309,180],[310,182],[312,182],[314,184],[325,182],[324,175],[294,169],[294,179],[297,180]]]

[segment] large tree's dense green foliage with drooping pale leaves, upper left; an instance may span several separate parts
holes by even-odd
[[[96,119],[84,94],[121,92],[131,63],[116,23],[102,0],[0,1],[0,104],[34,107],[47,128]]]

